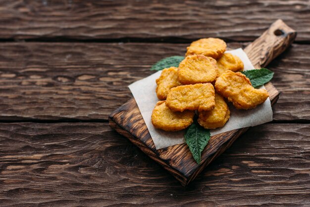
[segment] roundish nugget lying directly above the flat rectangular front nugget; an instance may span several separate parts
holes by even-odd
[[[218,76],[216,60],[204,55],[187,56],[179,65],[178,76],[183,84],[210,83]]]

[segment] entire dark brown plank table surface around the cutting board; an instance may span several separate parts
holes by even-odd
[[[186,188],[108,115],[193,40],[245,47],[281,18],[273,122]],[[310,1],[0,1],[0,206],[310,205]]]

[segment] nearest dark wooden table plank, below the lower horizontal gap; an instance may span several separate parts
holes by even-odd
[[[310,124],[250,128],[187,188],[106,123],[0,124],[1,206],[308,205]]]

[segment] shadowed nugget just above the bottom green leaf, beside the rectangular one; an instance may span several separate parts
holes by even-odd
[[[222,127],[230,117],[229,108],[224,98],[215,93],[215,107],[212,111],[202,111],[198,115],[198,123],[206,129]]]

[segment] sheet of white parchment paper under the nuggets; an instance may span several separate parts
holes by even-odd
[[[241,48],[226,52],[238,56],[243,61],[245,70],[255,69],[247,54]],[[156,149],[182,144],[185,142],[183,138],[185,130],[167,132],[156,129],[151,122],[153,109],[157,101],[159,101],[155,92],[155,80],[159,78],[160,74],[161,71],[158,71],[145,79],[129,85],[129,89],[131,90],[137,102],[142,117],[150,131]],[[272,109],[269,98],[257,108],[250,110],[237,110],[232,104],[228,105],[230,109],[230,119],[223,127],[210,130],[211,135],[272,121]]]

